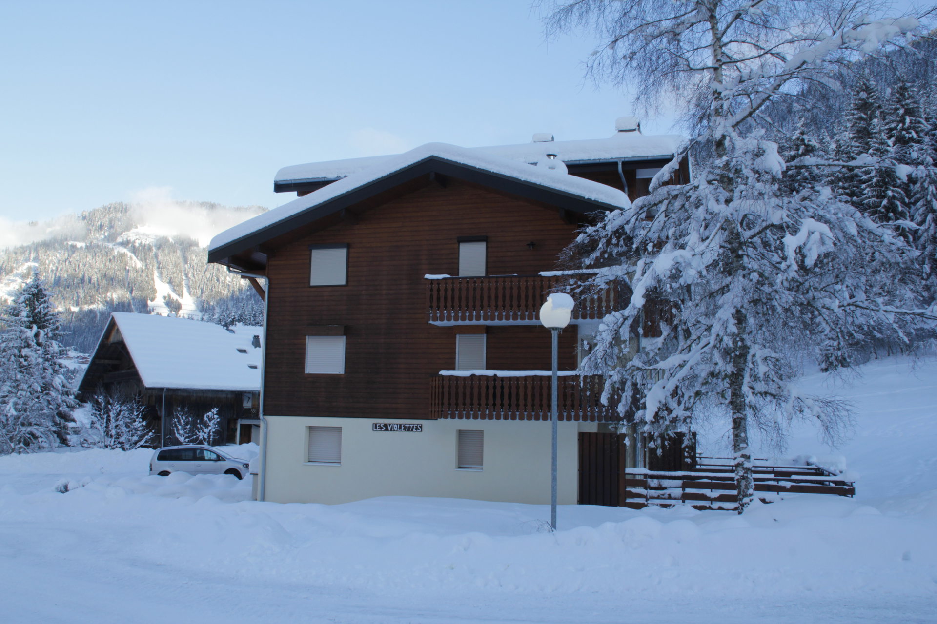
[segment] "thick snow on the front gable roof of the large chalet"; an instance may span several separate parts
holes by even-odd
[[[546,145],[553,145],[553,143],[546,143]],[[545,152],[543,157],[545,158]],[[324,204],[370,182],[386,178],[401,169],[429,158],[438,158],[457,165],[481,169],[513,180],[528,181],[561,193],[583,197],[611,208],[627,208],[630,205],[627,195],[607,184],[577,178],[557,170],[530,167],[524,162],[447,143],[426,143],[409,152],[395,156],[381,156],[374,160],[369,167],[364,167],[347,178],[335,181],[307,196],[298,197],[279,208],[259,214],[243,224],[235,225],[212,239],[212,242],[208,245],[208,251],[212,252],[237,239],[242,239],[271,225],[285,221],[300,212]]]

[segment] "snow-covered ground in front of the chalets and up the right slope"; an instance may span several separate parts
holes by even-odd
[[[790,449],[847,457],[855,500],[741,517],[564,506],[550,534],[537,505],[281,505],[231,476],[147,476],[150,451],[0,457],[0,619],[935,622],[937,358],[864,372],[833,388],[854,440],[804,429]]]

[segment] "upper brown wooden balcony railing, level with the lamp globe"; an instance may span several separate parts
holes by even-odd
[[[430,323],[536,322],[546,296],[568,276],[492,275],[427,280]],[[627,305],[615,288],[576,301],[573,320],[601,319]]]

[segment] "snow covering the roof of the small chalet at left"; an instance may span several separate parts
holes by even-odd
[[[260,390],[260,349],[251,342],[262,337],[261,327],[237,326],[231,333],[174,316],[113,312],[112,318],[146,387]]]

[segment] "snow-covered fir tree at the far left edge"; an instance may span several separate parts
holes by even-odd
[[[34,273],[3,311],[0,334],[0,446],[22,453],[66,441],[77,405],[59,361],[58,314]]]

